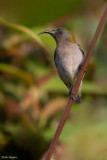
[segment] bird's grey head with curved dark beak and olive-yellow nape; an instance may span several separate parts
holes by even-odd
[[[50,34],[56,40],[56,42],[63,40],[63,41],[70,41],[72,43],[76,43],[75,37],[72,34],[72,32],[68,31],[65,28],[60,27],[50,31],[46,30],[46,31],[40,32],[39,35],[43,33]]]

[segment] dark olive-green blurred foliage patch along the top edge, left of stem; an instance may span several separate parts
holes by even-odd
[[[8,2],[8,1],[7,1]],[[45,1],[0,1],[0,14],[12,22],[27,26],[39,26],[64,16],[79,5],[82,0]],[[44,14],[45,13],[45,14]]]

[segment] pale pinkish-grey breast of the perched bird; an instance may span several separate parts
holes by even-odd
[[[66,74],[68,78],[73,79],[78,71],[79,65],[83,61],[83,54],[77,44],[57,46],[55,51],[55,64],[61,77]]]

